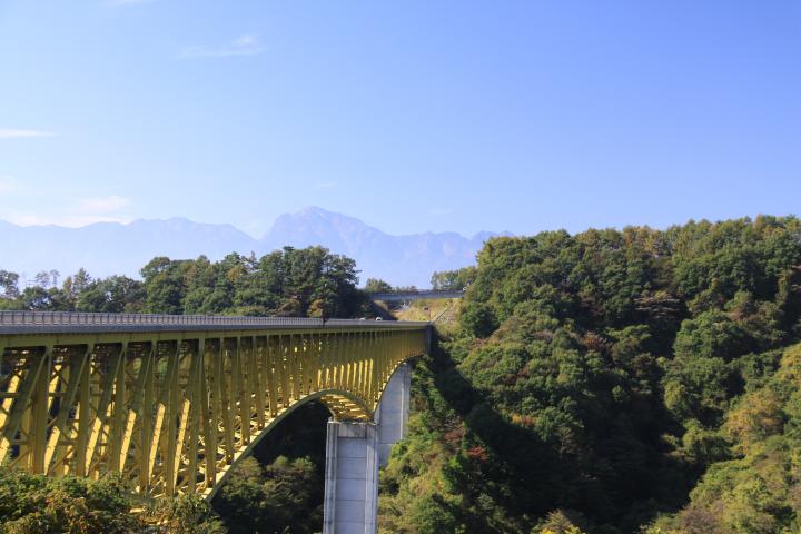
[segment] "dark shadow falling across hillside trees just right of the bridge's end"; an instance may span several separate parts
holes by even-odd
[[[462,442],[465,452],[457,456],[457,466],[449,466],[446,476],[467,498],[478,503],[471,513],[465,507],[451,508],[471,526],[471,532],[497,532],[481,514],[482,494],[490,496],[522,524],[568,502],[567,481],[574,467],[560,458],[552,447],[534,432],[508,422],[493,409],[485,396],[459,372],[451,355],[441,346],[434,334],[427,366],[433,374],[436,390],[465,422],[469,433]],[[442,500],[441,500],[442,501]],[[512,520],[512,517],[508,517]]]

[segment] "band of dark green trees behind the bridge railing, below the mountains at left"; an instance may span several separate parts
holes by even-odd
[[[356,289],[356,264],[323,247],[286,247],[260,259],[229,254],[211,263],[157,257],[126,276],[91,279],[80,269],[56,287],[56,276],[18,289],[19,277],[0,270],[0,309],[291,317],[354,317],[367,309]]]

